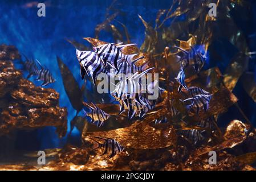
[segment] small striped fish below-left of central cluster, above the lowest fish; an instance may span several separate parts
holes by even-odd
[[[91,118],[91,123],[96,124],[98,127],[101,127],[105,121],[110,117],[109,114],[105,113],[104,110],[101,110],[98,106],[92,103],[92,106],[86,104],[90,111],[85,111],[85,116]]]

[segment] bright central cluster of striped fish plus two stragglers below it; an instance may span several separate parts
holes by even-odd
[[[135,45],[107,43],[93,47],[93,51],[80,51],[76,49],[76,57],[80,64],[80,76],[82,79],[88,75],[91,77],[94,85],[96,85],[96,78],[100,73],[105,73],[107,76],[111,76],[111,74],[117,76],[119,73],[125,75],[124,78],[119,77],[119,83],[115,85],[111,96],[119,103],[120,114],[125,110],[128,111],[128,119],[134,117],[143,118],[149,110],[155,107],[155,102],[148,100],[147,94],[142,92],[142,90],[147,88],[147,85],[143,85],[140,81],[142,76],[154,68],[146,69],[147,63],[137,66],[136,62],[143,59],[143,56],[134,59],[137,54],[124,55],[122,52],[123,48]],[[114,69],[114,72],[111,72],[111,69]],[[104,122],[110,117],[109,114],[105,113],[95,104],[92,104],[92,106],[87,104],[87,109],[88,111],[84,110],[85,116],[90,117],[90,122],[98,127],[103,126]],[[99,143],[97,148],[104,148],[103,154],[106,154],[108,150],[111,151],[109,158],[123,151],[123,147],[115,139],[104,140],[105,142],[103,144]]]

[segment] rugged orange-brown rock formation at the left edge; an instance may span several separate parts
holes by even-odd
[[[19,57],[15,47],[0,46],[0,135],[17,129],[55,126],[63,137],[67,109],[59,107],[59,93],[23,78],[13,63]]]

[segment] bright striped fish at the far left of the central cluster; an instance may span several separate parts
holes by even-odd
[[[76,49],[76,57],[80,63],[80,76],[82,79],[84,79],[86,74],[90,74],[95,85],[97,76],[100,73],[107,73],[106,65],[97,53],[91,51],[79,51]]]

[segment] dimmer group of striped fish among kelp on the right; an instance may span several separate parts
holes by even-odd
[[[193,66],[194,71],[196,71],[196,73],[200,72],[202,67],[204,67],[206,56],[202,55],[201,52],[199,52],[191,46],[190,51],[186,51],[177,46],[175,46],[175,48],[179,49],[182,52],[182,56],[180,57],[179,60],[179,62],[181,63],[180,72],[178,72],[178,75],[175,78],[177,82],[180,84],[180,86],[178,87],[178,92],[181,92],[182,88],[184,88],[189,93],[189,98],[182,100],[182,102],[184,102],[188,110],[192,110],[197,114],[201,109],[207,111],[209,108],[210,100],[212,99],[212,94],[196,86],[186,86],[184,72],[184,69],[186,69],[189,65]],[[156,122],[166,122],[166,119],[160,119]],[[213,122],[215,122],[214,118],[208,118],[206,119],[206,121],[200,121],[196,126],[207,129],[213,129]],[[184,135],[186,138],[188,138],[190,141],[192,141],[192,143],[196,145],[205,139],[204,133],[205,130],[192,129],[186,130],[184,132]]]

